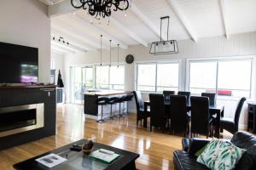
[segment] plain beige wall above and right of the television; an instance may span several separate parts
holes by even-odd
[[[0,1],[0,42],[38,48],[39,82],[49,82],[50,21],[38,0]]]

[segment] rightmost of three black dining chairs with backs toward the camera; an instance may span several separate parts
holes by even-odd
[[[209,111],[209,99],[207,97],[191,96],[191,137],[193,134],[213,134],[212,118]]]

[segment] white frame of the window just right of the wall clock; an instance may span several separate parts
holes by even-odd
[[[134,79],[134,89],[138,90],[138,65],[155,65],[155,77],[154,77],[154,91],[144,91],[141,90],[144,94],[150,94],[150,93],[159,93],[160,91],[157,91],[158,87],[157,86],[157,79],[158,79],[158,65],[160,64],[177,64],[178,65],[178,80],[177,80],[177,87],[166,87],[166,88],[177,88],[177,90],[180,90],[180,85],[181,85],[181,74],[182,74],[182,66],[181,66],[181,59],[171,59],[171,60],[151,60],[151,61],[137,61],[135,62],[135,67],[134,67],[134,72],[135,72],[135,79]]]

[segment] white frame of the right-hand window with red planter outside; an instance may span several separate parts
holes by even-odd
[[[231,56],[231,57],[218,57],[218,58],[196,58],[196,59],[187,59],[186,62],[186,87],[185,89],[189,91],[190,88],[190,63],[204,63],[204,62],[216,62],[217,67],[216,67],[216,85],[215,85],[215,93],[218,93],[218,63],[219,62],[225,62],[225,61],[250,61],[251,62],[251,70],[250,70],[250,88],[249,88],[249,97],[248,99],[253,98],[253,81],[255,80],[253,78],[253,65],[255,63],[255,56],[253,55],[245,55],[245,56]],[[234,90],[229,88],[230,90]],[[240,89],[236,89],[240,90]],[[241,89],[242,91],[242,89]],[[198,95],[198,94],[194,94]],[[220,96],[217,95],[218,99],[239,99],[240,97],[233,97],[233,96]]]

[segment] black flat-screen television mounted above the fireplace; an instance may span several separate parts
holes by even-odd
[[[38,82],[38,48],[0,42],[0,83]]]

